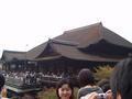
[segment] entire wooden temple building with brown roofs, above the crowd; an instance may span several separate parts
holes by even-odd
[[[66,70],[112,65],[130,53],[132,43],[105,28],[102,23],[96,23],[65,31],[29,52],[3,51],[1,61],[7,66],[3,68],[10,68],[15,63],[18,68],[23,69]]]

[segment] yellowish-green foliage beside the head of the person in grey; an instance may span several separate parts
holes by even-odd
[[[98,68],[95,68],[95,77],[97,80],[109,78],[111,75],[111,72],[113,70],[113,67],[107,66],[98,66]]]

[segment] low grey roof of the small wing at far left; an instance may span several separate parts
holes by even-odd
[[[3,51],[1,61],[10,62],[13,59],[25,59],[25,52],[16,52],[16,51]]]

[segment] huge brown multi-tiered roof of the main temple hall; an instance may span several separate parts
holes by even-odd
[[[132,43],[101,23],[69,31],[44,42],[26,53],[29,59],[67,57],[70,59],[118,62],[132,53]]]

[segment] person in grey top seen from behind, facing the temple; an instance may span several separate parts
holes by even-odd
[[[79,72],[78,81],[81,87],[77,94],[78,99],[94,91],[98,94],[103,92],[100,87],[96,86],[94,74],[88,68],[84,68]]]

